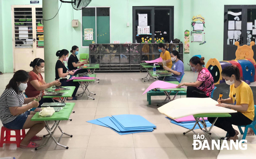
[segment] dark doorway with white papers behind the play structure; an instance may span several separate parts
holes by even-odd
[[[237,46],[250,45],[256,39],[256,5],[224,6],[224,46],[223,60],[234,60]],[[256,46],[253,47],[254,59]]]

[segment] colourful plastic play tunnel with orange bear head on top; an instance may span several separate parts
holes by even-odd
[[[251,42],[251,45],[240,46],[239,42],[236,41],[235,45],[237,46],[237,51],[235,51],[235,60],[230,61],[218,61],[216,58],[211,58],[206,63],[206,68],[213,76],[214,84],[220,84],[225,82],[221,76],[221,71],[224,67],[237,65],[240,71],[240,77],[247,84],[250,82],[256,81],[256,62],[253,59],[253,50],[252,46],[255,44],[254,41]]]

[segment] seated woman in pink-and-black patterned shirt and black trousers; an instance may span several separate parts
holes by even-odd
[[[207,98],[211,97],[211,92],[214,89],[213,76],[207,68],[204,68],[204,57],[199,58],[197,56],[192,57],[189,60],[191,69],[193,72],[199,72],[197,81],[193,83],[184,82],[177,87],[183,85],[187,87],[187,97]]]

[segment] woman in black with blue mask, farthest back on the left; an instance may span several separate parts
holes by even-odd
[[[69,68],[69,70],[76,70],[77,67],[79,67],[80,65],[83,65],[83,64],[87,64],[87,60],[84,60],[83,62],[80,62],[77,58],[76,55],[78,55],[78,51],[79,51],[79,48],[78,46],[73,46],[72,49],[70,50],[70,52],[72,53],[69,58],[68,58],[68,61],[67,61],[67,67]],[[76,74],[78,73],[83,73],[83,72],[87,72],[87,69],[81,69],[81,70],[78,70],[76,71]]]

